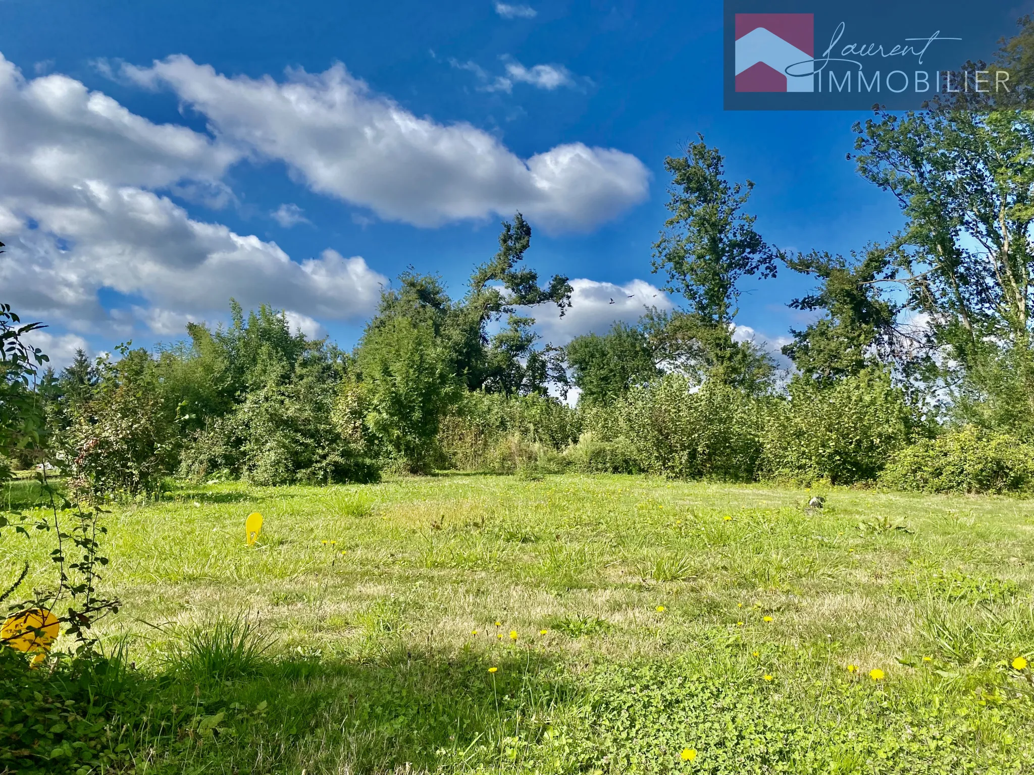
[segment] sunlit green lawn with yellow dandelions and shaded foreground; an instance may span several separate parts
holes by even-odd
[[[1034,771],[1034,501],[812,494],[443,475],[116,508],[136,772]]]

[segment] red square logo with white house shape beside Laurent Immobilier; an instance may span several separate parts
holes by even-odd
[[[736,14],[737,92],[815,91],[814,57],[814,13]]]

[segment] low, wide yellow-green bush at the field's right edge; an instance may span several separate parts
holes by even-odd
[[[881,481],[927,493],[1022,492],[1034,485],[1034,447],[967,426],[902,450]]]

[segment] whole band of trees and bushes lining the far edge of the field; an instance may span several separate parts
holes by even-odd
[[[52,461],[91,497],[170,476],[279,485],[443,468],[1025,490],[1034,116],[879,114],[855,131],[852,157],[901,204],[901,233],[849,256],[780,250],[747,211],[753,183],[727,180],[700,138],[666,161],[670,217],[653,245],[678,307],[564,347],[539,340],[534,315],[562,313],[572,288],[526,266],[519,213],[462,297],[406,272],[352,351],[232,303],[229,326],[190,324],[154,352],[80,352],[56,374],[5,309],[3,454]],[[813,321],[783,347],[790,371],[735,336],[743,278],[780,271],[815,283],[791,304]],[[573,388],[577,405],[556,398]]]

